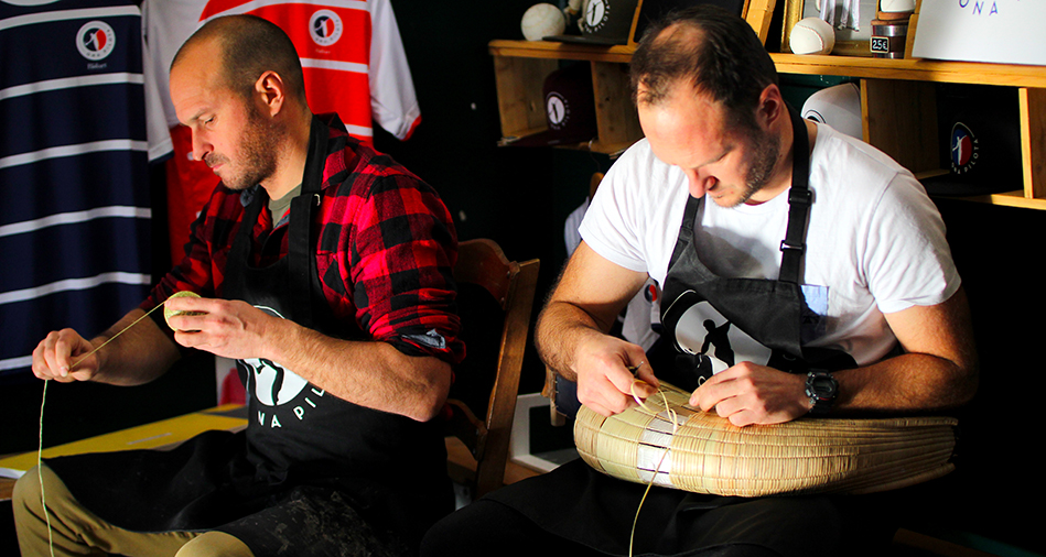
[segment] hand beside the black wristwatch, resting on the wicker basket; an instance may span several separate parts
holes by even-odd
[[[708,380],[690,395],[690,405],[729,418],[736,426],[780,424],[806,415],[806,375],[741,362]]]

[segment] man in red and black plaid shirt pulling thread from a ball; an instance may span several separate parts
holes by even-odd
[[[436,417],[464,346],[446,208],[312,114],[293,45],[265,20],[201,28],[171,94],[194,157],[222,178],[185,259],[101,336],[48,335],[33,371],[141,384],[180,347],[206,350],[237,360],[249,425],[169,452],[48,459],[55,555],[414,553],[452,509]],[[179,291],[201,297],[166,303],[174,330],[155,312],[73,367]],[[36,474],[15,489],[23,555],[48,544]]]

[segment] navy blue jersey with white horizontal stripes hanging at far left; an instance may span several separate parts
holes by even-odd
[[[137,2],[0,1],[0,380],[148,294],[144,107]]]

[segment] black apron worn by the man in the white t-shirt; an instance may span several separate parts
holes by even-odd
[[[778,364],[791,372],[802,372],[811,365],[855,367],[844,352],[800,346],[805,304],[798,278],[811,199],[807,187],[809,140],[798,112],[789,113],[795,144],[781,280],[723,278],[709,271],[692,242],[700,199],[691,197],[664,287],[661,299],[671,302],[662,309],[662,324],[666,334],[675,338],[680,316],[707,301],[732,324],[772,349],[770,365]],[[656,369],[659,378],[665,379],[667,370]],[[579,459],[488,498],[515,509],[550,534],[606,554],[627,555],[632,521],[645,490],[646,485],[596,472]],[[843,499],[727,498],[654,487],[639,514],[635,555],[689,555],[734,544],[758,545],[786,556],[837,554],[846,545],[843,533],[858,529],[854,524],[867,522],[852,512],[850,503],[855,500]]]

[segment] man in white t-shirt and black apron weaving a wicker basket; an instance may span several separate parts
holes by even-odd
[[[940,216],[909,172],[802,120],[752,29],[714,7],[651,24],[630,72],[646,139],[604,178],[536,331],[582,403],[619,413],[636,404],[636,375],[649,396],[701,351],[734,363],[713,362],[690,404],[737,426],[939,411],[973,396],[964,294]],[[648,278],[661,286],[662,340],[690,357],[651,365],[607,335]],[[882,555],[896,527],[884,518],[903,505],[894,492],[645,489],[571,462],[438,523],[423,555]]]

